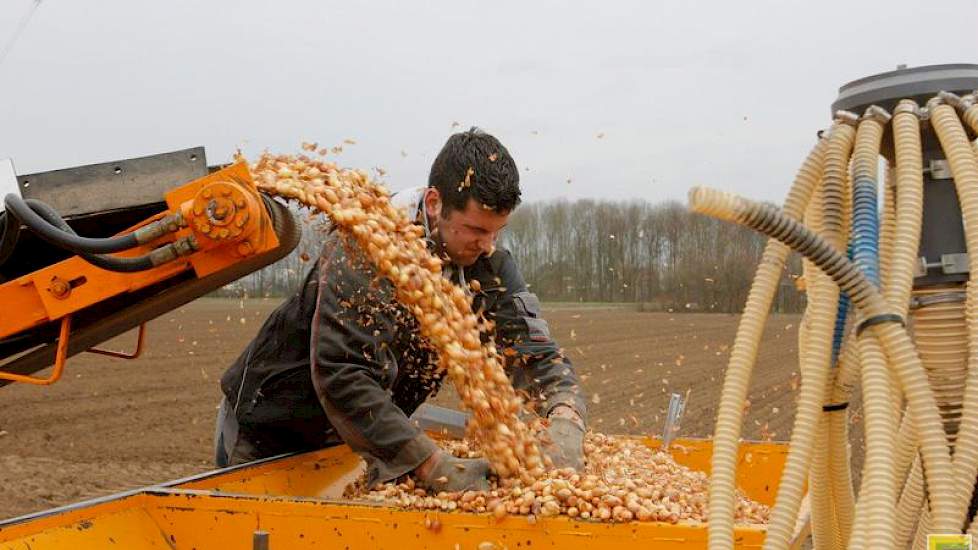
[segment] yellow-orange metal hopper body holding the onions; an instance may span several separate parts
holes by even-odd
[[[642,442],[656,448],[660,441]],[[712,444],[680,439],[680,464],[709,473]],[[787,447],[744,443],[737,485],[772,504]],[[706,548],[704,523],[598,523],[566,517],[510,516],[389,508],[344,500],[361,472],[349,447],[269,459],[0,523],[0,549],[95,548],[205,550],[416,548]],[[436,520],[437,521],[434,521]],[[764,526],[740,525],[736,548],[761,548]]]

